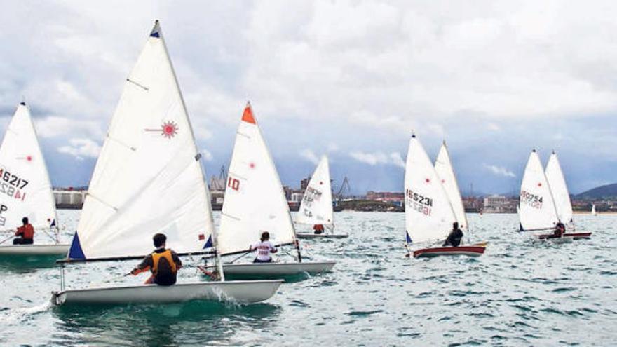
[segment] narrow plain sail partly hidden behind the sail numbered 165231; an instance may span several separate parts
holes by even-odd
[[[435,160],[435,171],[441,179],[446,194],[452,205],[452,210],[456,216],[456,221],[459,222],[459,228],[467,231],[467,216],[465,215],[465,206],[463,206],[463,199],[461,198],[461,191],[459,191],[459,184],[456,182],[456,175],[454,175],[454,168],[452,167],[452,161],[446,147],[446,142],[442,144],[437,159]]]

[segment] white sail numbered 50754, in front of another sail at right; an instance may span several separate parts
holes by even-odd
[[[529,155],[521,182],[519,218],[522,230],[549,229],[557,224],[557,210],[540,158]]]

